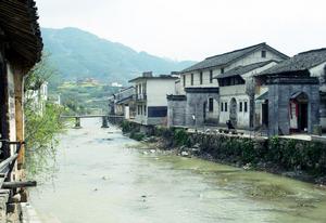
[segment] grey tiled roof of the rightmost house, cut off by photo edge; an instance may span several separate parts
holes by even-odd
[[[264,70],[258,76],[304,71],[324,62],[326,62],[326,48],[299,53],[298,55]]]

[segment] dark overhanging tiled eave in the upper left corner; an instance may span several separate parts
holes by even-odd
[[[41,57],[43,44],[37,21],[34,0],[0,1],[0,27],[12,55],[9,60],[17,61],[25,68],[30,68]]]

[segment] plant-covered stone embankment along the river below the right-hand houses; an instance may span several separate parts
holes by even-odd
[[[326,145],[280,137],[247,137],[216,132],[188,132],[180,128],[145,127],[124,121],[129,137],[177,155],[260,170],[326,185]]]

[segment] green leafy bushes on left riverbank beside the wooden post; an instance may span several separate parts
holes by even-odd
[[[64,131],[60,118],[64,107],[48,102],[41,95],[41,86],[55,75],[43,58],[25,79],[25,169],[27,178],[46,179],[55,171],[58,134]]]

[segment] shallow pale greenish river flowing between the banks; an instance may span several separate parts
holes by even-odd
[[[61,136],[55,178],[30,192],[47,223],[326,222],[326,191],[143,149],[100,120]]]

